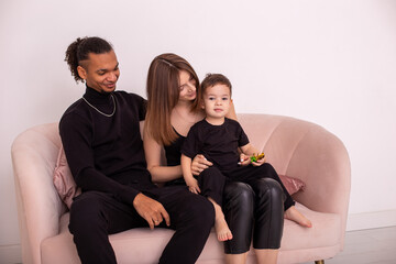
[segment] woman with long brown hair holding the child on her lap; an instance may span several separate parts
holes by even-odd
[[[190,64],[175,55],[154,58],[147,75],[144,150],[153,182],[184,184],[180,146],[193,124],[204,119],[199,79]],[[228,118],[237,119],[233,106]],[[167,166],[162,166],[162,147]],[[212,164],[197,155],[191,164],[199,175]],[[252,241],[258,263],[276,263],[284,221],[284,196],[278,183],[260,179],[249,186],[228,184],[223,211],[233,239],[224,242],[227,263],[245,263]],[[253,224],[254,223],[254,224]],[[253,231],[254,226],[254,231]]]

